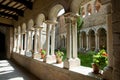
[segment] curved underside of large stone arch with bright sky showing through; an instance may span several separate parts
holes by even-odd
[[[49,12],[49,19],[56,21],[57,20],[57,15],[60,10],[64,9],[64,7],[61,4],[57,4],[54,7],[51,8]]]

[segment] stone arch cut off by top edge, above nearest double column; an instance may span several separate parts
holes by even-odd
[[[74,13],[78,13],[80,8],[80,3],[81,0],[73,0],[70,6],[71,11]]]

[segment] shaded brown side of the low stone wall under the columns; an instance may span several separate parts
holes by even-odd
[[[40,80],[97,80],[94,77],[62,69],[17,53],[12,58]]]

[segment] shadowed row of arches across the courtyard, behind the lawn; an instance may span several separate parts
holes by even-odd
[[[84,50],[101,50],[107,49],[106,27],[97,26],[81,30],[80,32],[80,49]]]

